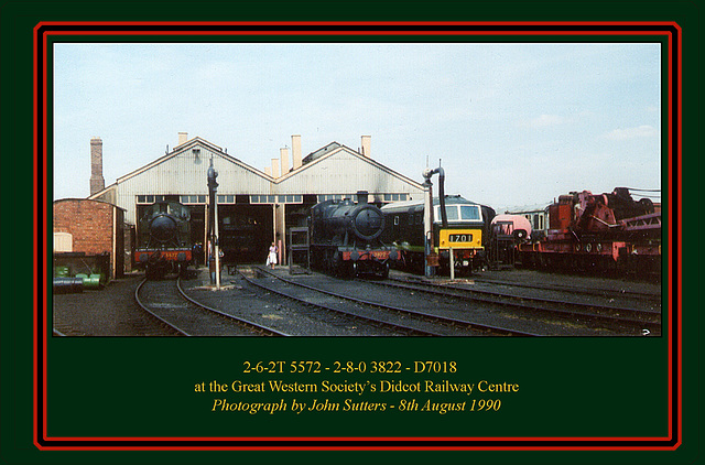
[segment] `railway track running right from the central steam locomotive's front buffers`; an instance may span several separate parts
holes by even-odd
[[[387,281],[366,281],[377,285],[395,288],[404,291],[425,292],[448,299],[470,300],[489,305],[511,307],[522,312],[533,314],[545,314],[561,317],[568,321],[581,321],[594,325],[606,325],[608,327],[628,331],[633,334],[661,333],[661,311],[643,310],[636,307],[601,305],[586,302],[575,302],[566,299],[546,299],[530,296],[521,293],[508,293],[481,289],[469,289],[467,286],[449,283],[433,283],[423,280],[405,280],[390,278]],[[511,284],[509,284],[511,285]],[[572,292],[570,288],[521,284],[533,290],[551,289],[553,291]],[[595,290],[595,292],[598,292]],[[647,299],[648,296],[642,298]]]

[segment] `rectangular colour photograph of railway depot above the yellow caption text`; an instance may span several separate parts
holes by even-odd
[[[659,43],[56,43],[54,336],[661,336]]]

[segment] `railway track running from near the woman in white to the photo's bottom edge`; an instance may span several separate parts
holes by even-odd
[[[395,305],[388,305],[380,302],[372,302],[350,295],[344,295],[313,285],[307,285],[302,282],[288,280],[261,267],[253,267],[253,270],[261,275],[274,278],[279,282],[284,283],[284,285],[275,288],[274,285],[265,285],[261,282],[257,282],[256,280],[242,274],[242,277],[253,285],[267,289],[270,292],[275,292],[288,299],[294,299],[306,304],[315,304],[330,312],[345,313],[351,317],[364,318],[376,325],[387,325],[388,327],[393,328],[394,331],[400,331],[404,334],[426,336],[539,336],[539,334],[524,331],[458,320],[440,314],[403,309]],[[296,295],[295,292],[292,292],[292,288],[294,286],[303,289],[306,292],[302,295]],[[337,302],[335,305],[315,302],[315,298],[312,296],[311,291],[318,294],[325,294],[341,302]],[[360,312],[361,309],[372,309],[372,312],[367,312],[367,314],[364,315]],[[383,310],[384,312],[379,313],[379,310]],[[398,321],[391,321],[390,314],[395,314],[397,316],[394,316],[394,318]],[[382,317],[384,317],[384,320],[382,320]],[[399,323],[399,320],[404,320],[404,324]]]

